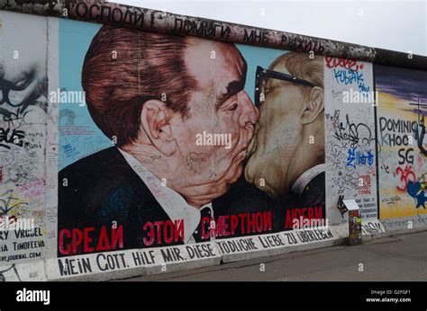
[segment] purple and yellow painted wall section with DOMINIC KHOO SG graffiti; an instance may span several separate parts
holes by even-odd
[[[425,72],[375,67],[380,218],[425,214]]]

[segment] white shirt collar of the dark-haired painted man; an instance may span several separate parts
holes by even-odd
[[[168,214],[170,220],[184,220],[184,243],[195,243],[193,233],[200,222],[200,211],[208,208],[211,211],[211,217],[213,217],[212,202],[204,205],[201,209],[196,209],[189,205],[177,191],[168,188],[168,186],[163,186],[159,179],[133,155],[120,148],[119,151],[126,162],[131,165],[133,171],[140,176],[142,182],[150,189],[150,192]],[[168,179],[166,179],[166,182],[168,185]]]

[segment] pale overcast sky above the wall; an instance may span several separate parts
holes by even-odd
[[[427,0],[114,0],[427,56]]]

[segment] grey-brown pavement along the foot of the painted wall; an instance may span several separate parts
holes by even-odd
[[[127,281],[427,280],[427,231]]]

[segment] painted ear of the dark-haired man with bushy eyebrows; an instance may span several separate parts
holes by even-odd
[[[169,124],[170,111],[164,102],[150,100],[141,110],[141,129],[150,138],[151,143],[164,155],[173,155],[177,150]]]

